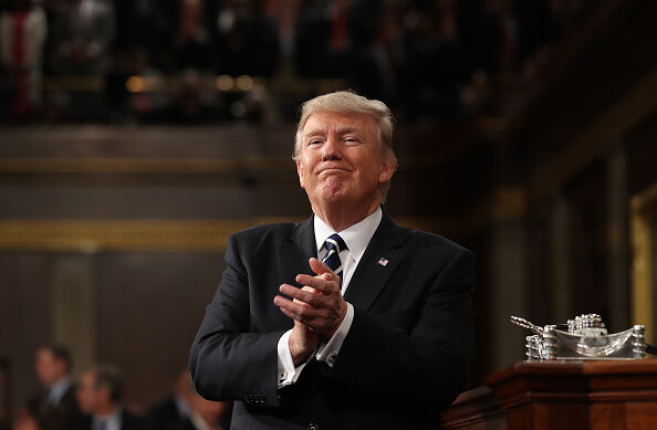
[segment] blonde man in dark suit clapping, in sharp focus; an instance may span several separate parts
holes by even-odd
[[[436,428],[461,389],[473,255],[382,209],[392,141],[378,101],[303,105],[293,158],[314,216],[230,237],[191,347],[198,391],[237,400],[231,428]]]

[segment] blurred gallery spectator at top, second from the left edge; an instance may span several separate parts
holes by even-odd
[[[104,0],[60,4],[53,29],[53,70],[63,75],[103,75],[112,61],[114,9]]]

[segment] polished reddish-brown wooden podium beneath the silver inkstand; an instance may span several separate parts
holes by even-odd
[[[441,429],[657,430],[657,359],[521,361],[461,394]]]

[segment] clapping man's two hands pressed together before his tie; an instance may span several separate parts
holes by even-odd
[[[340,289],[340,276],[317,259],[310,259],[310,266],[316,276],[300,274],[296,282],[315,291],[283,284],[280,287],[281,293],[294,301],[277,296],[274,304],[290,318],[306,325],[324,338],[331,338],[347,310]],[[296,301],[301,303],[294,303]]]

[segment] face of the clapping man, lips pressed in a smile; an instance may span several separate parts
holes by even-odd
[[[313,208],[331,202],[376,206],[394,166],[382,159],[373,118],[317,112],[303,127],[296,170]]]

